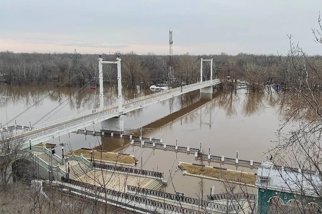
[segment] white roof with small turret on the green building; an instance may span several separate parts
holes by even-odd
[[[258,168],[255,186],[282,192],[304,192],[313,196],[315,188],[321,189],[322,181],[314,171],[275,166],[265,161]]]

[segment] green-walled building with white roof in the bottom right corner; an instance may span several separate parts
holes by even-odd
[[[301,170],[262,162],[256,177],[258,214],[322,213],[321,176]]]

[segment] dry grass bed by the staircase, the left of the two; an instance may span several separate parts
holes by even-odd
[[[80,156],[83,153],[85,158],[90,159],[90,150],[87,149],[76,149],[73,151],[75,155]],[[66,155],[71,156],[71,152],[68,152]],[[102,161],[110,161],[118,164],[135,164],[135,160],[130,155],[118,154],[114,152],[100,152],[94,151],[94,159],[100,160],[102,157]]]

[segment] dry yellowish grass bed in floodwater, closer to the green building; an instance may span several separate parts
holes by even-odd
[[[187,173],[196,174],[196,175],[204,175],[207,177],[213,177],[225,181],[232,181],[237,183],[246,183],[255,185],[256,175],[251,173],[243,173],[239,171],[232,170],[224,170],[217,169],[209,166],[204,167],[204,171],[202,171],[202,167],[199,165],[185,164],[182,163],[185,167]]]

